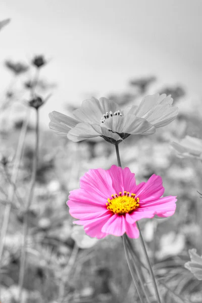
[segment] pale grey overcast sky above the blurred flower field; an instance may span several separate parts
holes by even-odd
[[[43,109],[61,111],[93,93],[121,92],[131,77],[156,75],[202,95],[201,0],[6,0],[0,63],[52,58],[43,77],[58,88]],[[1,87],[11,75],[0,71]]]

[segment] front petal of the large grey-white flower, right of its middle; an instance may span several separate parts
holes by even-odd
[[[148,130],[150,130],[151,133],[155,133],[155,127],[153,127],[153,125],[134,115],[110,117],[103,123],[103,126],[118,133],[142,134]]]

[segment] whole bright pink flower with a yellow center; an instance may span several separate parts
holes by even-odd
[[[161,197],[162,178],[152,175],[136,185],[129,168],[113,165],[109,170],[90,169],[80,178],[80,188],[70,191],[69,212],[79,219],[86,234],[98,239],[109,234],[138,238],[136,221],[142,218],[172,216],[176,197]]]

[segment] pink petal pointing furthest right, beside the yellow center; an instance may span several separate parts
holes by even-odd
[[[175,213],[177,201],[176,196],[166,196],[157,200],[140,203],[141,210],[153,211],[159,217],[170,217]]]

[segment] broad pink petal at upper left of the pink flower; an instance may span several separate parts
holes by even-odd
[[[90,169],[86,172],[85,175],[80,178],[80,187],[89,192],[89,195],[94,193],[98,199],[100,199],[99,196],[106,198],[106,203],[107,199],[114,193],[111,176],[102,168]]]

